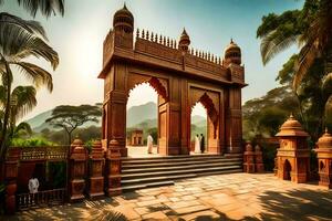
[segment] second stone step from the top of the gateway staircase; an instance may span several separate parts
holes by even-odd
[[[123,171],[127,169],[141,169],[141,168],[156,168],[156,167],[169,167],[169,166],[186,166],[186,165],[205,165],[207,162],[238,162],[242,164],[242,158],[230,158],[230,159],[209,159],[209,160],[197,160],[197,161],[190,161],[190,160],[184,160],[178,162],[173,161],[158,161],[158,162],[152,162],[152,164],[122,164]]]

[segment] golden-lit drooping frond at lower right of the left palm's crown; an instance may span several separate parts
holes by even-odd
[[[12,63],[20,67],[20,71],[30,78],[37,87],[46,86],[46,88],[52,92],[53,90],[53,80],[52,75],[35,64],[28,62],[18,62]]]

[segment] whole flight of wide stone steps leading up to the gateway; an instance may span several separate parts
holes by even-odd
[[[123,191],[174,185],[177,179],[242,172],[242,155],[196,155],[123,158]]]

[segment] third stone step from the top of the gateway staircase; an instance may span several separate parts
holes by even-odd
[[[195,169],[195,168],[209,168],[209,167],[222,167],[222,166],[240,166],[242,165],[242,161],[208,161],[208,162],[195,162],[195,164],[168,164],[165,165],[156,165],[156,166],[149,166],[149,167],[141,167],[135,169],[128,169],[123,168],[122,173],[123,175],[133,175],[133,173],[142,173],[142,172],[156,172],[156,171],[170,171],[170,170],[187,170],[187,169]]]

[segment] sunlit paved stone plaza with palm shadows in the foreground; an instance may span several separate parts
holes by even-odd
[[[177,181],[98,201],[18,213],[10,220],[331,220],[332,191],[271,173],[232,173]]]

